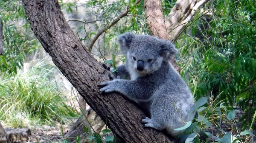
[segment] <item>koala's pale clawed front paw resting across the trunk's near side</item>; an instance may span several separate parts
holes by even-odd
[[[116,91],[118,80],[115,79],[113,81],[105,81],[98,85],[100,88],[99,91],[101,93],[111,93],[113,91]]]

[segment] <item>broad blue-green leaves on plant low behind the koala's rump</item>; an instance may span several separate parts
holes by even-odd
[[[196,109],[192,108],[189,111],[196,110],[198,112],[198,118],[196,118],[191,126],[185,129],[183,135],[180,135],[181,142],[250,143],[250,138],[254,135],[250,130],[241,132],[237,128],[236,113],[232,107],[224,106],[224,102],[220,104],[215,103],[217,100],[213,100],[213,96],[209,99],[201,97],[198,101],[195,102]],[[225,126],[231,128],[230,132],[223,131],[221,124],[224,123],[226,123]],[[214,132],[213,129],[215,129]]]

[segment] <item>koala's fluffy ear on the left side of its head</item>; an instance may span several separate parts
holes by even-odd
[[[126,32],[117,37],[117,42],[122,50],[126,53],[130,49],[131,41],[136,35],[130,32]]]

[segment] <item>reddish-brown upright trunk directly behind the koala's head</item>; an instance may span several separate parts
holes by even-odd
[[[160,39],[169,40],[166,31],[166,24],[163,18],[161,7],[161,0],[144,0],[145,14],[147,18],[148,27],[152,36],[157,36]],[[180,73],[180,67],[174,57],[170,59],[173,67]]]

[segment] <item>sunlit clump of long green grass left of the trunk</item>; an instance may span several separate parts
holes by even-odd
[[[9,127],[52,125],[75,117],[54,78],[56,67],[39,62],[0,81],[0,120]]]

